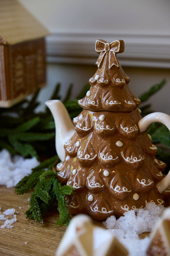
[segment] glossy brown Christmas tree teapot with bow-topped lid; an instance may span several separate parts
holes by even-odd
[[[146,133],[153,122],[170,130],[170,116],[157,112],[141,117],[141,101],[130,91],[130,79],[116,57],[123,51],[123,40],[96,41],[98,69],[86,96],[78,101],[83,111],[74,124],[63,103],[46,102],[62,161],[56,167],[58,179],[75,188],[75,194],[66,197],[71,214],[105,220],[146,202],[164,204],[170,194],[170,172],[162,174],[166,164],[155,157],[157,147]]]

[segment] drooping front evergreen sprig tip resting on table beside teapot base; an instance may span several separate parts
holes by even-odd
[[[69,212],[65,196],[72,194],[74,188],[69,185],[61,185],[52,169],[43,172],[36,183],[34,192],[31,195],[29,210],[26,211],[27,218],[33,218],[36,222],[42,223],[42,214],[45,213],[56,200],[58,203],[59,219],[57,225],[69,224]]]

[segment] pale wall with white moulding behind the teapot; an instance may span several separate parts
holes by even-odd
[[[20,0],[51,32],[47,38],[47,87],[44,104],[57,82],[64,95],[70,83],[73,97],[95,73],[96,39],[123,39],[118,55],[136,96],[167,79],[152,97],[155,111],[170,114],[169,0]]]

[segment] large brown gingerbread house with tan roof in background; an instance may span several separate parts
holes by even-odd
[[[47,29],[17,0],[0,1],[0,107],[43,87]]]

